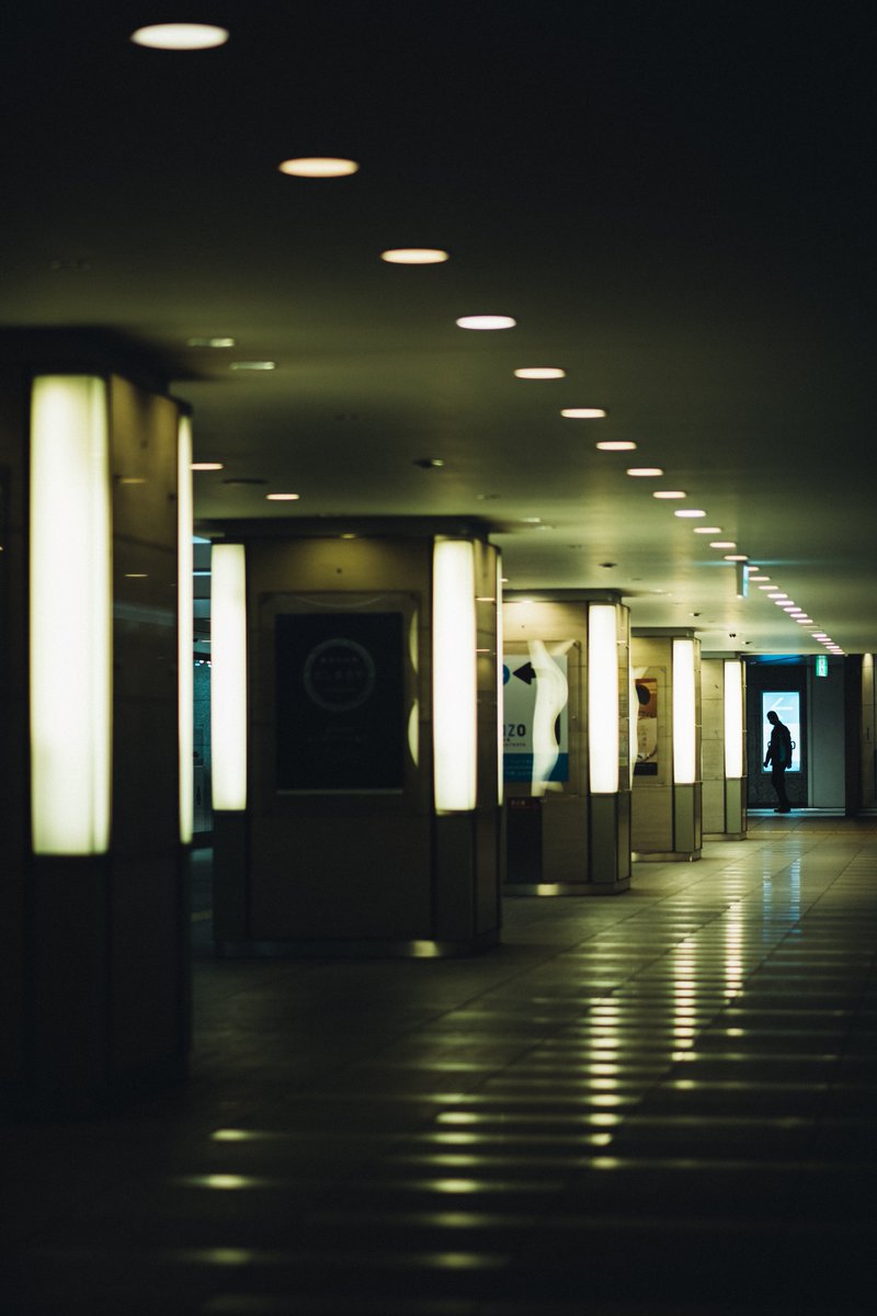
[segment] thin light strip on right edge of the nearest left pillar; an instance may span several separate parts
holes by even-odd
[[[192,570],[192,421],[180,416],[176,438],[176,644],[179,679],[180,841],[188,845],[195,822],[195,599]]]

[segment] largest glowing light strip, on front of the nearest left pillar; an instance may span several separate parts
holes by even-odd
[[[30,809],[36,854],[105,854],[112,815],[108,388],[39,375],[30,422]]]

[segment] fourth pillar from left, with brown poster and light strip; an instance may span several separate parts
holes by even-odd
[[[692,630],[636,628],[632,846],[640,859],[701,857],[699,641]]]

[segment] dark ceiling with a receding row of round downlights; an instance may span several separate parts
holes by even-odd
[[[4,16],[0,304],[158,363],[224,463],[199,517],[484,517],[509,588],[617,588],[709,651],[877,650],[868,7],[175,8]],[[129,41],[192,17],[230,39]],[[277,170],[313,154],[360,168]],[[738,599],[727,551],[814,624]]]

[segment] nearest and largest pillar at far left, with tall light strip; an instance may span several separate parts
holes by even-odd
[[[67,350],[64,334],[53,359]],[[134,384],[92,343],[74,357],[0,379],[0,470],[26,525],[3,545],[26,712],[5,719],[20,849],[13,865],[0,846],[0,867],[20,888],[7,912],[28,912],[7,924],[0,1076],[32,1109],[176,1079],[188,1046],[191,442],[160,380]]]

